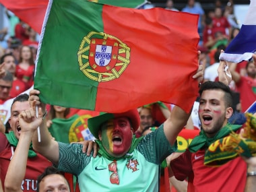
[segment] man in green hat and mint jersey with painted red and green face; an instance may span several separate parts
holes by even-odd
[[[201,79],[201,69],[200,66],[194,78]],[[36,100],[35,104],[45,113],[45,104],[40,102],[38,94],[38,90],[30,92],[30,104],[33,106]],[[53,141],[42,119],[32,122],[31,131],[40,125],[41,135],[40,143],[37,137],[32,143],[36,151],[60,170],[77,175],[80,191],[158,191],[160,164],[177,148],[177,135],[188,118],[189,114],[177,106],[156,131],[139,139],[133,134],[139,127],[137,108],[88,119],[88,127],[98,139],[96,158],[82,153],[79,144]]]

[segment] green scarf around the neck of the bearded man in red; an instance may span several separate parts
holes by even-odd
[[[201,148],[207,149],[212,143],[218,139],[221,139],[222,137],[226,137],[233,131],[237,131],[240,127],[242,127],[242,125],[230,125],[228,123],[225,127],[222,127],[222,129],[220,129],[220,131],[218,131],[214,137],[211,138],[207,137],[203,129],[201,129],[199,135],[191,141],[189,151],[195,153]]]

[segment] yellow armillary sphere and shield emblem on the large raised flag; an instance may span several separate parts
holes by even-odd
[[[130,63],[130,48],[119,38],[90,32],[77,52],[79,69],[96,82],[117,79]]]

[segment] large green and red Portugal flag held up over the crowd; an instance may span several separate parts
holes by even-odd
[[[84,0],[50,1],[34,88],[42,102],[119,113],[197,96],[198,15]]]

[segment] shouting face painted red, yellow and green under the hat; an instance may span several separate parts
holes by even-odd
[[[133,129],[127,117],[108,120],[99,131],[99,139],[106,152],[114,157],[127,154],[131,147]]]

